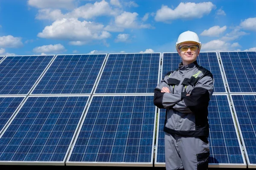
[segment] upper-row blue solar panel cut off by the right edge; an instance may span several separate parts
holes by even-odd
[[[220,52],[230,92],[256,92],[256,52]]]

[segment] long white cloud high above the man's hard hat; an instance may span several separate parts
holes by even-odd
[[[168,6],[162,6],[157,10],[156,21],[167,22],[176,19],[201,18],[215,8],[211,2],[204,3],[180,3],[174,10]]]

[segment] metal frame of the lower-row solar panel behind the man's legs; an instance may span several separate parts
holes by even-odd
[[[230,103],[230,99],[229,99],[229,96],[228,94],[213,94],[213,96],[227,96],[227,100],[228,102]],[[231,105],[229,105],[230,107],[230,114],[232,113],[232,107]],[[165,167],[165,162],[157,162],[157,149],[158,149],[158,136],[159,136],[159,129],[160,128],[163,128],[163,127],[159,127],[160,123],[159,123],[159,118],[160,118],[160,109],[157,108],[157,111],[158,111],[158,120],[157,120],[157,137],[156,137],[156,149],[155,149],[155,162],[154,162],[154,166],[155,167]],[[235,127],[235,130],[236,130],[236,137],[238,139],[238,142],[239,142],[239,147],[240,147],[240,150],[241,150],[241,156],[243,158],[243,161],[244,161],[244,164],[227,164],[227,163],[218,163],[218,164],[213,164],[213,163],[209,163],[209,167],[211,168],[246,168],[247,167],[247,164],[246,164],[246,161],[245,161],[245,157],[244,157],[244,152],[243,152],[243,148],[241,146],[241,141],[239,140],[239,131],[238,131],[238,128],[236,126],[236,118],[232,115],[232,119],[233,119],[233,123],[234,123],[234,127]],[[211,132],[211,130],[210,130]],[[210,135],[210,134],[209,134]],[[209,139],[209,142],[210,141],[210,138]],[[227,146],[225,146],[227,147]]]

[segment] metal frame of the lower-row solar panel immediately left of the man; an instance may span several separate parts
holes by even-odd
[[[70,160],[70,157],[71,157],[71,154],[72,154],[72,151],[74,149],[74,146],[76,144],[76,141],[79,137],[79,133],[81,131],[81,127],[83,126],[84,124],[84,119],[86,118],[86,115],[87,115],[87,112],[88,112],[88,109],[90,108],[90,104],[91,104],[91,101],[93,99],[94,96],[152,96],[152,94],[95,94],[91,97],[90,99],[90,102],[88,104],[88,107],[85,111],[85,115],[83,117],[83,120],[81,122],[81,125],[79,127],[79,130],[76,134],[76,138],[73,142],[73,145],[72,145],[72,148],[70,149],[70,153],[69,153],[69,156],[67,158],[67,161],[66,161],[66,165],[67,166],[119,166],[119,167],[154,167],[153,165],[153,161],[154,161],[154,141],[155,141],[155,128],[156,128],[156,111],[157,111],[157,107],[155,107],[155,113],[154,113],[154,130],[153,130],[153,136],[152,136],[152,150],[151,150],[151,162],[150,163],[141,163],[141,162],[79,162],[79,161],[69,161]]]

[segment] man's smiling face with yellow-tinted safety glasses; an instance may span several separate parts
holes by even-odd
[[[178,49],[178,53],[179,53],[179,55],[182,59],[183,65],[191,64],[198,57],[198,55],[200,53],[200,50],[199,50],[199,48],[195,47],[194,45],[197,45],[197,44],[195,44],[195,43],[180,44],[180,47]],[[189,46],[189,47],[191,46],[192,49],[191,48],[186,48],[186,46]],[[183,48],[181,48],[181,47],[183,47]]]

